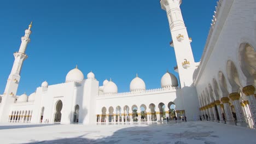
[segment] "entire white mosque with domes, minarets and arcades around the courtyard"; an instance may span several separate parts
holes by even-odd
[[[212,122],[255,128],[256,1],[217,2],[200,62],[194,61],[181,3],[160,1],[167,13],[179,82],[167,71],[161,88],[156,89],[146,89],[137,75],[130,83],[130,92],[118,93],[114,81],[101,84],[94,73],[84,77],[75,67],[65,83],[48,85],[44,81],[29,96],[16,95],[31,23],[21,38],[19,52],[14,53],[13,68],[0,97],[0,121],[114,124],[161,122],[167,117],[196,121],[201,115]]]

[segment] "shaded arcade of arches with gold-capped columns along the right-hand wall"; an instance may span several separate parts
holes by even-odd
[[[238,58],[239,64],[226,62],[226,71],[219,71],[218,78],[213,78],[200,93],[200,111],[209,121],[255,128],[255,49],[247,43],[241,44]],[[241,85],[242,79],[247,85]]]

